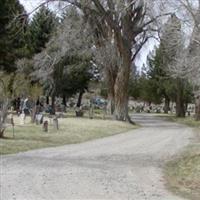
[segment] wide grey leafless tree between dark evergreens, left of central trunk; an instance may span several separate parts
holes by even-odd
[[[41,82],[46,88],[46,94],[51,95],[52,99],[55,99],[55,95],[61,95],[61,81],[77,56],[80,60],[89,59],[91,44],[87,24],[77,9],[70,6],[46,48],[32,60],[32,77]],[[53,100],[52,106],[54,107]]]

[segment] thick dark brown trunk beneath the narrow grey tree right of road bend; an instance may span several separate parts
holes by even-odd
[[[181,79],[177,79],[176,91],[176,117],[185,117],[184,85]]]

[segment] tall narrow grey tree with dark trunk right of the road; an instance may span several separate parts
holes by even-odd
[[[164,54],[163,64],[168,72],[172,72],[172,68],[177,66],[183,52],[183,38],[181,33],[181,21],[173,14],[166,23],[162,39],[161,48]],[[187,81],[177,74],[172,74],[176,79],[176,116],[185,117],[186,102],[184,99],[184,91],[187,86]]]

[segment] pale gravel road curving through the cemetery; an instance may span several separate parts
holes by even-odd
[[[181,200],[164,187],[162,166],[192,129],[151,115],[143,127],[76,145],[1,157],[1,200]]]

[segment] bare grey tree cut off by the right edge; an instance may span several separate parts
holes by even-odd
[[[171,2],[168,1],[171,5]],[[175,76],[188,79],[193,84],[196,120],[200,120],[200,0],[177,0],[174,4],[179,8],[186,43],[185,48],[176,57],[176,64],[171,65],[170,71]],[[180,43],[183,43],[180,42]]]

